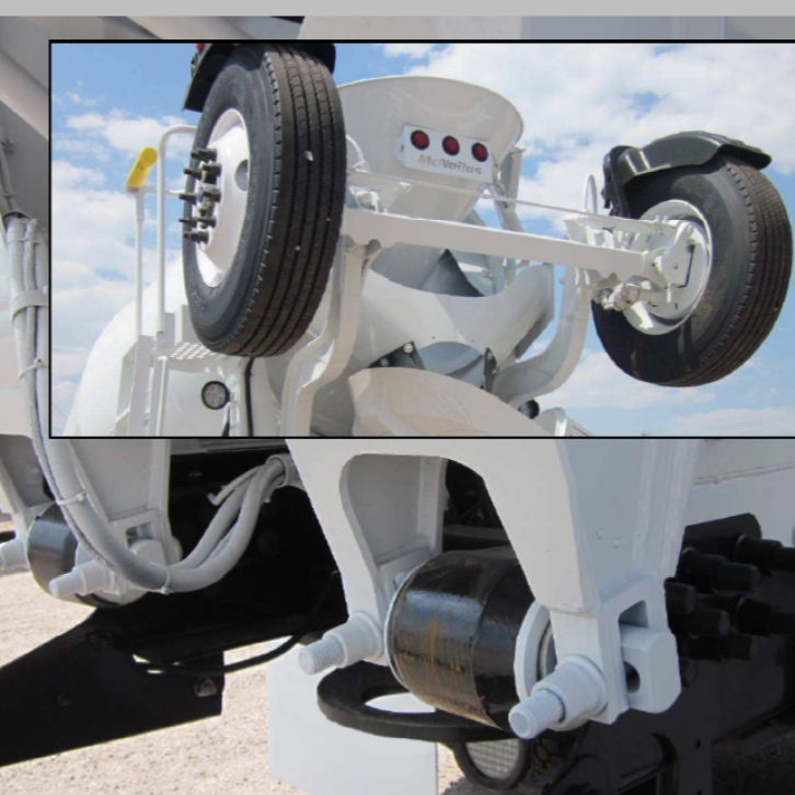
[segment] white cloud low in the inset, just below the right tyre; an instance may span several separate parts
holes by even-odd
[[[607,354],[586,350],[572,378],[546,399],[562,408],[644,410],[714,403],[714,392],[675,390],[636,381]]]

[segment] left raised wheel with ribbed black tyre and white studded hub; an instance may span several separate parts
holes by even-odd
[[[276,356],[307,332],[339,238],[345,158],[320,60],[273,44],[234,50],[199,122],[183,219],[191,316],[208,348]]]

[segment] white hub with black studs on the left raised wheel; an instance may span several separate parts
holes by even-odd
[[[218,287],[238,253],[249,199],[251,150],[239,111],[221,115],[204,151],[212,152],[215,161],[201,165],[196,210],[191,219],[200,231],[188,237],[197,243],[201,279],[208,287]]]

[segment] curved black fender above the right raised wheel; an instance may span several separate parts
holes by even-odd
[[[642,149],[615,147],[604,158],[604,206],[612,215],[629,216],[626,187],[633,180],[669,169],[705,165],[718,154],[729,154],[760,171],[773,162],[761,149],[713,132],[677,132]]]

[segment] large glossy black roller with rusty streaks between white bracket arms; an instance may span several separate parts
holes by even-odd
[[[431,706],[510,730],[516,641],[533,598],[509,548],[447,552],[401,585],[387,623],[390,665]]]

